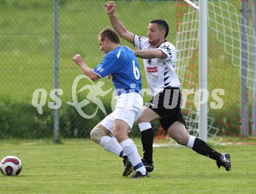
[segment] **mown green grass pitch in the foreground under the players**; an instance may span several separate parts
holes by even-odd
[[[18,156],[23,170],[0,175],[0,193],[255,193],[255,146],[215,149],[231,153],[232,171],[188,148],[161,147],[154,149],[150,177],[131,180],[122,177],[122,160],[91,140],[2,141],[0,158]]]

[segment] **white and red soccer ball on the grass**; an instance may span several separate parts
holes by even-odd
[[[6,156],[0,163],[1,173],[8,176],[16,176],[22,171],[22,162],[16,156]]]

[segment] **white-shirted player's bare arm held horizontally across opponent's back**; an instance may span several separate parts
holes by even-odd
[[[159,49],[148,49],[148,50],[133,50],[136,57],[139,58],[166,58],[167,54],[163,53]]]

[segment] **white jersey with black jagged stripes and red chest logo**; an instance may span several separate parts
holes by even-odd
[[[134,35],[134,46],[140,50],[152,49],[148,39]],[[151,95],[161,92],[165,87],[179,87],[180,81],[175,73],[175,46],[170,42],[163,42],[156,49],[167,54],[166,58],[143,59],[148,88]]]

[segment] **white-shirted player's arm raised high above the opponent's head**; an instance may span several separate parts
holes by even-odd
[[[133,44],[134,34],[128,31],[125,28],[125,25],[123,25],[118,17],[115,16],[115,2],[108,2],[105,4],[105,7],[106,13],[108,14],[109,20],[111,21],[112,27],[115,29],[115,31],[118,32],[119,36],[121,36],[123,39],[126,39],[126,41]]]

